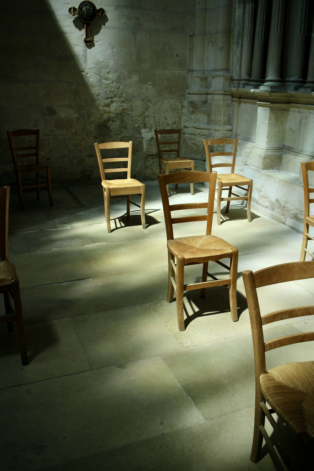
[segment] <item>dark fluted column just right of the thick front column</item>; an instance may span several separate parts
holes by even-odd
[[[306,43],[306,21],[307,21],[308,0],[298,0],[295,11],[295,35],[293,38],[293,47],[288,77],[286,83],[290,88],[298,89],[304,83],[304,53]]]

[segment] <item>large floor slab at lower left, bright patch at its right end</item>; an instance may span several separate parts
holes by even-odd
[[[6,471],[40,470],[203,422],[158,357],[1,390],[0,400],[14,404],[1,413]]]

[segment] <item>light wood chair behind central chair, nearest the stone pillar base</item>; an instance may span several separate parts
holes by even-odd
[[[229,212],[230,201],[242,200],[246,201],[246,209],[248,220],[251,222],[251,195],[252,195],[252,187],[253,187],[253,180],[243,177],[242,175],[238,175],[234,173],[235,168],[235,158],[237,154],[237,147],[238,147],[238,139],[235,138],[218,138],[218,139],[204,139],[203,140],[205,153],[206,153],[206,160],[208,165],[209,172],[212,169],[216,169],[218,167],[231,167],[231,173],[218,173],[217,174],[217,224],[221,224],[221,216],[220,216],[220,207],[221,202],[226,201],[225,212]],[[227,152],[225,150],[215,152],[210,152],[209,146],[226,146],[231,145],[233,146],[233,150]],[[231,155],[232,162],[215,162],[212,163],[212,157],[217,156],[224,156],[224,155]],[[216,159],[215,159],[216,160]],[[248,188],[243,188],[243,185]],[[240,188],[247,192],[247,195],[238,195],[237,193],[233,193],[233,187]],[[228,191],[228,196],[222,196],[223,191]]]

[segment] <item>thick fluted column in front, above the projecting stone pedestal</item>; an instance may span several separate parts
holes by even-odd
[[[273,0],[272,20],[268,43],[266,79],[261,89],[282,85],[282,41],[285,0]]]

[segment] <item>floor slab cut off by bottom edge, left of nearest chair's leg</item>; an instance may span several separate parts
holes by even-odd
[[[50,471],[275,471],[269,455],[259,463],[250,462],[252,431],[252,424],[245,414],[236,412],[57,465]]]

